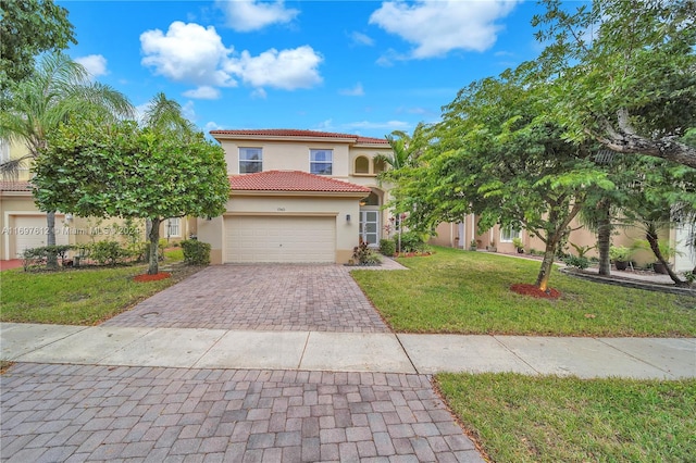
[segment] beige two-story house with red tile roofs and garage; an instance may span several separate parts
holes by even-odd
[[[360,239],[383,236],[391,155],[385,139],[313,130],[213,130],[225,151],[231,196],[219,217],[198,218],[211,262],[346,263]]]

